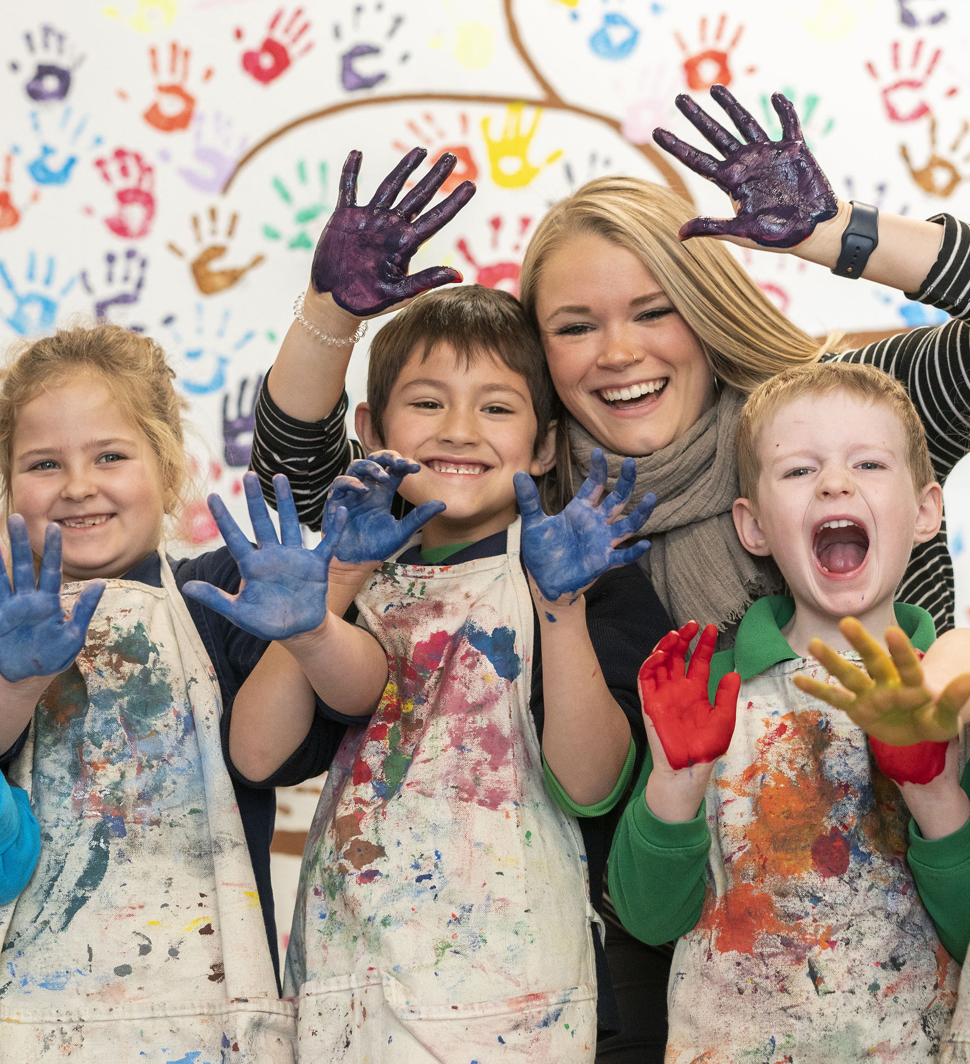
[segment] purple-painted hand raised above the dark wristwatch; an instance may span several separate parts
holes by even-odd
[[[835,193],[805,145],[790,100],[781,93],[771,97],[782,123],[781,140],[771,140],[723,85],[715,85],[710,95],[728,112],[747,144],[683,94],[676,98],[678,110],[724,159],[698,151],[667,130],[654,130],[653,139],[688,169],[728,193],[737,204],[737,217],[691,218],[681,227],[682,240],[725,236],[753,240],[766,248],[793,248],[809,237],[820,221],[835,217]]]

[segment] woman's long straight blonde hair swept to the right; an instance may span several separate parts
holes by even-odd
[[[780,370],[836,349],[839,334],[820,345],[792,325],[722,242],[696,237],[682,244],[678,232],[693,215],[686,200],[639,178],[598,178],[561,200],[539,222],[522,263],[519,299],[533,326],[538,329],[536,299],[549,256],[591,233],[639,259],[697,336],[720,383],[745,395]],[[559,501],[571,497],[565,418],[561,428]]]

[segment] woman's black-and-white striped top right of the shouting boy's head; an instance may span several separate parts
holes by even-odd
[[[941,326],[914,329],[825,361],[866,362],[905,388],[926,431],[926,444],[942,484],[970,444],[970,227],[950,215],[930,219],[943,227],[937,261],[910,299],[951,315]],[[953,628],[953,566],[946,521],[935,538],[914,548],[897,599],[921,605],[937,633]]]

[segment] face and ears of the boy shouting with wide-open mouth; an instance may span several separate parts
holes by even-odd
[[[757,452],[757,501],[735,502],[735,526],[748,550],[777,562],[798,610],[891,609],[913,545],[936,535],[942,513],[935,481],[914,487],[892,409],[838,390],[802,396],[764,427]]]

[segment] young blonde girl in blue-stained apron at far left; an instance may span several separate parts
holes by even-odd
[[[224,549],[180,563],[160,549],[187,479],[172,377],[116,326],[40,339],[3,373],[0,750],[44,841],[0,908],[3,1060],[292,1060],[273,793],[234,793],[220,743],[266,644],[183,600],[195,577],[238,589]]]

